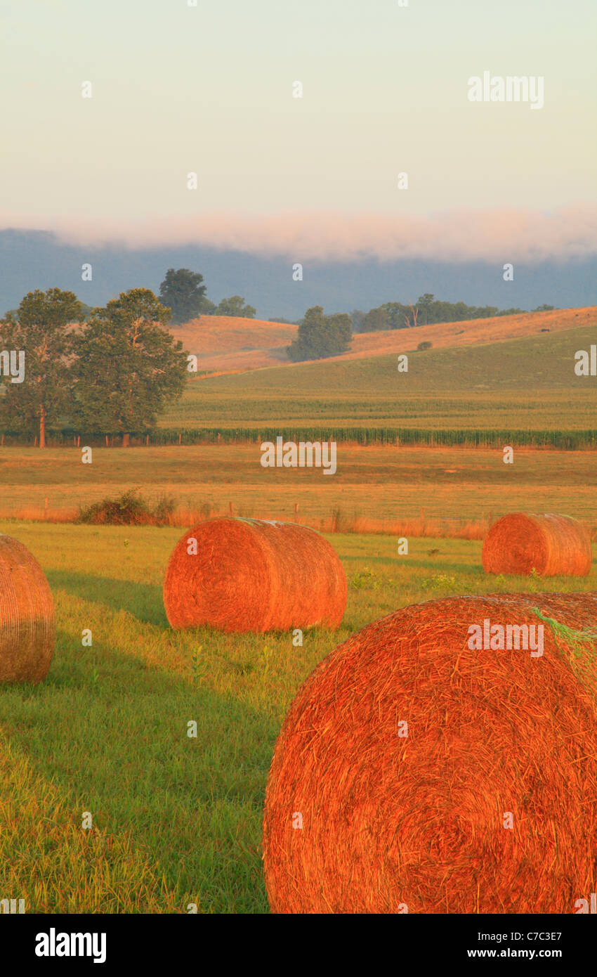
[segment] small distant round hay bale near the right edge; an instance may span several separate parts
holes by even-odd
[[[531,516],[513,512],[491,527],[483,542],[485,573],[586,576],[591,569],[591,540],[572,516]]]

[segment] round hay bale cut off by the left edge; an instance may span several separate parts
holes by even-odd
[[[56,641],[48,581],[18,539],[0,534],[0,683],[41,682]]]

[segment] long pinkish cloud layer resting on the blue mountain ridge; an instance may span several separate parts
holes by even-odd
[[[413,214],[288,211],[274,215],[204,212],[189,218],[116,222],[12,217],[2,228],[52,231],[87,245],[124,243],[136,248],[196,244],[260,256],[350,261],[540,262],[597,254],[597,205],[574,204],[550,213],[535,210],[452,210]]]

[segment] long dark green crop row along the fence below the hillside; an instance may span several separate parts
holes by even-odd
[[[0,432],[2,444],[17,446],[33,444],[31,435],[21,432]],[[597,448],[597,430],[588,431],[516,431],[516,430],[442,430],[423,428],[366,428],[366,427],[261,427],[261,428],[158,428],[149,432],[131,432],[132,445],[234,445],[271,441],[277,437],[285,441],[314,442],[332,440],[357,445],[411,445],[462,447],[557,447],[577,451]],[[74,431],[50,431],[51,446],[120,446],[122,435],[84,434]]]

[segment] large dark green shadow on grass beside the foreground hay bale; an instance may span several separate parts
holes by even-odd
[[[261,818],[278,730],[207,682],[107,642],[75,647],[59,631],[46,681],[0,690],[3,727],[75,824],[89,811],[98,828],[130,832],[179,912],[188,902],[200,913],[267,912]]]

